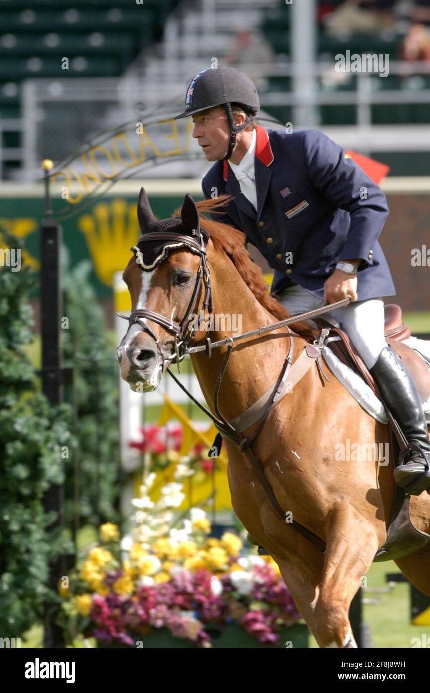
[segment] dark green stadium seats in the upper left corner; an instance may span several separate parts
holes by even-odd
[[[178,3],[0,0],[0,149],[19,148],[19,132],[8,129],[7,119],[22,116],[24,80],[121,76],[142,50],[161,39],[165,19]]]

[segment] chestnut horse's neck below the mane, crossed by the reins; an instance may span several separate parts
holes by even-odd
[[[225,258],[227,261],[227,258]],[[218,258],[217,258],[218,261]],[[230,266],[229,266],[230,265]],[[241,316],[241,333],[252,331],[263,325],[278,322],[260,303],[247,287],[230,261],[213,263],[216,272],[213,276],[213,310],[212,315]],[[220,321],[221,322],[221,321]],[[232,319],[233,324],[233,319]],[[236,319],[236,325],[238,320]],[[219,325],[218,325],[219,326]],[[211,342],[222,340],[231,332],[214,330],[209,333]],[[293,333],[295,334],[295,333]],[[303,349],[306,340],[295,335],[293,337],[294,358]],[[290,337],[286,328],[274,330],[266,335],[246,337],[235,342],[230,356],[230,362],[223,377],[219,403],[220,409],[227,419],[232,419],[245,411],[274,383],[279,376],[283,362],[288,355]],[[218,375],[225,359],[226,347],[212,350],[212,356],[207,359],[204,352],[191,356],[191,363],[196,373],[200,388],[207,404],[212,409],[214,391]],[[213,411],[213,409],[212,409]]]

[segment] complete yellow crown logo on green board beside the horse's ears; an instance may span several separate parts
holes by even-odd
[[[86,238],[97,279],[113,286],[113,275],[127,266],[130,248],[140,236],[135,203],[99,202],[91,214],[78,218],[77,227]]]

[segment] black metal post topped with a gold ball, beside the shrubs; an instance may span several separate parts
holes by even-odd
[[[59,251],[62,229],[52,218],[49,200],[48,170],[45,168],[45,217],[40,227],[40,322],[41,322],[41,381],[42,389],[52,405],[62,401],[62,364],[59,340],[59,320],[62,315],[62,296],[59,286]],[[63,484],[53,484],[44,495],[46,512],[55,511],[56,517],[48,529],[57,529],[63,524]],[[58,581],[65,573],[64,556],[50,564],[49,587],[58,591]],[[57,607],[50,602],[44,609],[44,647],[64,647],[62,629],[55,623]]]

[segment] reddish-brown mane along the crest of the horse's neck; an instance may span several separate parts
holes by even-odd
[[[217,208],[223,207],[227,202],[230,202],[230,200],[232,200],[230,195],[220,195],[220,197],[215,200],[201,200],[200,202],[196,202],[199,216],[204,220],[203,227],[209,233],[214,248],[216,250],[222,250],[230,257],[236,270],[246,282],[257,301],[278,320],[290,317],[288,310],[283,308],[279,301],[268,293],[268,287],[263,279],[263,274],[261,274],[259,265],[254,263],[252,257],[245,248],[245,234],[243,234],[243,231],[239,231],[239,229],[236,229],[234,226],[214,221],[207,216],[209,212],[217,214],[225,213],[225,211],[221,211]],[[173,216],[180,216],[180,207],[175,209]],[[274,322],[276,321],[274,320]],[[301,337],[306,337],[308,340],[315,338],[315,328],[312,329],[307,322],[295,322],[291,327],[297,334],[301,335]]]

